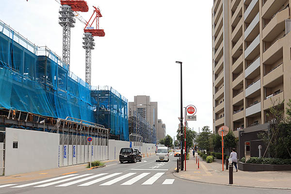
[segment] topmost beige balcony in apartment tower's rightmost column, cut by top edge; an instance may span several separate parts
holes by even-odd
[[[286,0],[267,0],[262,7],[262,18],[272,18]]]

